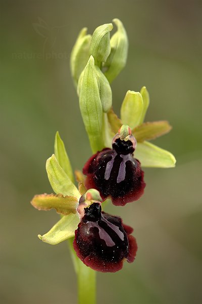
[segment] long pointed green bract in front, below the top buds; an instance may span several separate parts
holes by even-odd
[[[104,147],[102,138],[103,107],[99,97],[94,58],[90,56],[84,69],[79,104],[93,153]]]

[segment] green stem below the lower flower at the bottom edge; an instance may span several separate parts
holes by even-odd
[[[74,238],[69,239],[69,248],[77,275],[78,304],[96,303],[96,272],[87,267],[76,255],[73,248]]]

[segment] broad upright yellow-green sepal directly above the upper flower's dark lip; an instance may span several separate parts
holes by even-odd
[[[131,129],[140,124],[143,100],[139,92],[128,91],[121,106],[121,121]]]

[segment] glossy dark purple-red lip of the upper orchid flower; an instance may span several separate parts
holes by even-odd
[[[125,141],[117,134],[112,146],[98,151],[86,162],[85,186],[97,189],[103,199],[111,198],[114,205],[124,206],[143,195],[144,172],[140,162],[133,158],[136,140],[132,135]]]

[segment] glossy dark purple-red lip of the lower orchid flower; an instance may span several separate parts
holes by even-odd
[[[99,202],[85,208],[85,214],[75,231],[74,249],[90,268],[100,272],[116,272],[123,261],[133,262],[137,244],[122,219],[101,211]]]

